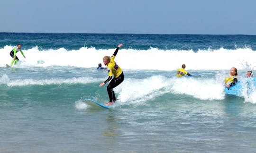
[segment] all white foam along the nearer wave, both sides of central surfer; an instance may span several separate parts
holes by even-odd
[[[102,78],[93,77],[72,77],[72,78],[50,78],[50,79],[14,79],[11,80],[4,74],[0,76],[0,85],[7,86],[27,86],[27,85],[73,85],[73,84],[91,84],[99,83]],[[154,101],[155,98],[163,94],[187,95],[201,100],[223,100],[225,99],[224,84],[222,78],[216,75],[215,78],[191,78],[191,77],[166,77],[161,75],[150,76],[142,79],[126,78],[124,82],[117,86],[114,91],[120,99],[120,104],[144,105],[148,101]],[[243,78],[240,79],[245,82]],[[98,87],[98,84],[95,86]],[[100,88],[101,89],[101,88]],[[245,102],[256,103],[256,89],[243,88],[242,97]],[[97,99],[95,95],[94,100]],[[102,98],[102,97],[101,97]],[[100,99],[102,101],[102,99]],[[105,101],[104,101],[105,102]]]

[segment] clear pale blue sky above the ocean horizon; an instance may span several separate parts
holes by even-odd
[[[256,0],[0,0],[0,32],[256,34]]]

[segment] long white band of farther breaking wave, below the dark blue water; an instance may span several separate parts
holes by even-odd
[[[0,49],[0,66],[10,64],[10,50],[14,46],[5,46]],[[17,67],[49,67],[73,66],[80,68],[95,68],[102,63],[105,55],[111,56],[115,49],[99,49],[82,47],[79,50],[67,51],[64,48],[57,50],[39,51],[37,47],[23,50],[26,59],[20,53]],[[238,69],[256,69],[256,51],[250,48],[227,50],[149,50],[119,49],[115,61],[123,69],[153,69],[175,70],[186,64],[187,70],[219,70],[236,67]]]

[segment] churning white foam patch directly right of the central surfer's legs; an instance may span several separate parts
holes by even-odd
[[[222,100],[224,86],[214,79],[167,78],[151,76],[145,79],[126,79],[115,91],[122,102],[143,103],[165,93],[186,94],[201,100]]]

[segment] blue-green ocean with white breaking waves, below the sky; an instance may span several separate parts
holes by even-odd
[[[9,52],[22,44],[13,68]],[[108,102],[115,58],[125,80]],[[256,35],[0,33],[1,153],[252,153],[256,91],[226,95],[256,69]],[[177,78],[177,68],[201,77]]]

